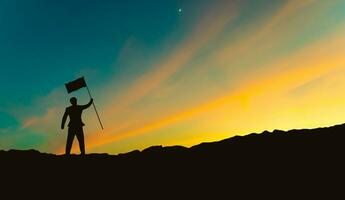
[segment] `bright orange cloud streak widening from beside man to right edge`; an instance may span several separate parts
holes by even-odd
[[[243,99],[253,100],[263,94],[287,93],[292,88],[303,85],[315,77],[345,66],[345,60],[341,53],[345,52],[343,33],[344,31],[333,35],[332,39],[320,40],[318,43],[296,51],[294,54],[277,59],[266,66],[260,74],[251,74],[243,79],[237,84],[236,89],[228,94],[147,123],[144,126],[124,132],[108,133],[105,137],[93,140],[89,148],[159,130],[222,106],[242,102]],[[338,53],[334,54],[333,52]],[[267,63],[265,64],[267,65]]]

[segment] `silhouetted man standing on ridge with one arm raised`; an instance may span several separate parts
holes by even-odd
[[[90,99],[90,102],[83,106],[77,104],[77,98],[75,97],[72,97],[70,99],[70,102],[72,106],[66,108],[66,111],[65,111],[65,114],[63,115],[62,123],[61,123],[61,129],[64,129],[66,119],[69,116],[68,135],[67,135],[67,142],[66,142],[66,155],[69,155],[71,152],[74,136],[77,136],[80,152],[82,155],[84,155],[85,144],[84,144],[83,126],[85,124],[81,120],[81,115],[84,109],[91,106],[93,99]]]

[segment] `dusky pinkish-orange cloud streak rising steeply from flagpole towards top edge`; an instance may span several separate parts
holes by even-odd
[[[115,104],[111,104],[105,109],[105,115],[122,111],[156,89],[162,82],[184,67],[203,47],[217,38],[236,16],[237,11],[233,4],[227,3],[210,9],[189,36],[166,59],[154,66],[151,71],[143,74],[119,100],[116,100]]]

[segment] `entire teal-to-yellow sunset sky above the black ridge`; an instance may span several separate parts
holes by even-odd
[[[344,0],[0,0],[0,149],[88,153],[345,122]],[[77,140],[73,152],[78,153]]]

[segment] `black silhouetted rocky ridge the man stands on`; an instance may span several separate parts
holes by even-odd
[[[344,142],[343,124],[265,131],[191,148],[153,146],[119,155],[0,151],[0,160],[1,172],[9,177],[2,178],[7,186],[35,182],[35,187],[38,183],[54,188],[55,193],[82,188],[83,195],[103,191],[98,195],[122,192],[127,197],[143,197],[149,193],[149,197],[163,199],[185,199],[186,194],[195,198],[212,194],[210,198],[215,199],[214,195],[224,193],[241,199],[321,195],[329,199],[339,195],[342,190],[337,189],[344,185]]]

